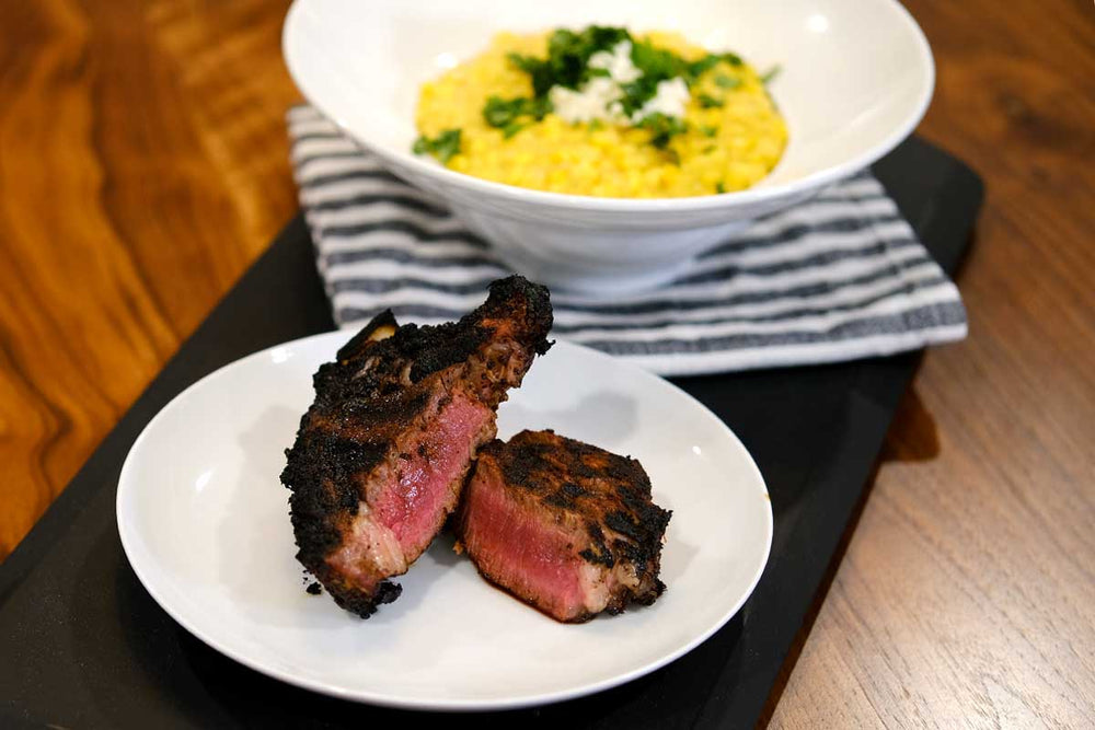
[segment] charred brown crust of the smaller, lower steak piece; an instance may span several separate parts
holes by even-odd
[[[462,547],[492,582],[566,622],[588,621],[600,610],[620,613],[632,602],[649,605],[665,591],[658,573],[672,512],[654,503],[650,479],[636,460],[551,430],[521,431],[508,443],[495,440],[480,450],[470,489],[489,488],[485,485],[493,478],[499,479],[507,498],[526,513],[535,514],[552,530],[568,530],[567,549],[576,561],[592,566],[600,575],[615,571],[627,579],[610,590],[602,609],[567,615],[553,612],[548,607],[550,596],[515,590],[520,581],[498,568],[497,556],[479,552],[485,548],[477,548],[476,542],[485,543],[475,540],[475,532],[495,515],[477,513],[477,500],[465,497],[457,531]],[[562,556],[561,563],[566,561],[567,556]]]

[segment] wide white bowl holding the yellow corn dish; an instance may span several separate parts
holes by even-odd
[[[411,152],[419,85],[498,31],[590,23],[670,30],[756,68],[789,142],[754,187],[691,198],[597,198],[504,185]],[[599,296],[664,283],[752,219],[869,165],[915,127],[931,49],[895,0],[296,0],[283,46],[304,96],[393,173],[441,198],[512,268]]]

